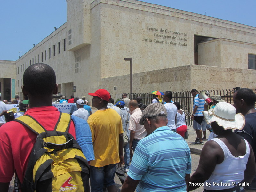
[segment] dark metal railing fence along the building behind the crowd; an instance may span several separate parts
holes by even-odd
[[[224,99],[226,102],[233,104],[233,94],[235,90],[239,89],[240,87],[235,87],[233,89],[218,89],[218,90],[208,90],[210,93],[210,97],[213,97],[214,95],[220,95],[222,99]],[[199,92],[201,92],[199,90]],[[191,95],[190,91],[183,91],[183,92],[172,92],[172,101],[179,102],[180,108],[185,111],[186,114],[186,121],[187,125],[192,125],[192,120],[190,120],[190,116],[193,112],[193,101],[194,98]],[[137,97],[142,97],[142,103],[144,105],[149,105],[152,103],[153,95],[152,93],[127,93],[127,97],[129,99],[136,99]],[[122,94],[121,94],[121,100],[122,100]]]

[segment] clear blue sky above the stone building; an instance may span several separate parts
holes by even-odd
[[[143,0],[256,27],[256,0]],[[65,0],[1,0],[0,60],[17,60],[67,21]]]

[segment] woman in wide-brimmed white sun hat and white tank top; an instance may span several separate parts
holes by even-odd
[[[256,174],[252,147],[233,132],[244,127],[244,116],[225,102],[217,103],[203,115],[218,136],[205,143],[189,191],[204,186],[204,192],[243,192],[243,186],[249,185]]]

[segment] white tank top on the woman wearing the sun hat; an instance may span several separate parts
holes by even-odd
[[[224,160],[217,164],[212,175],[204,182],[206,190],[222,190],[234,187],[238,182],[244,179],[244,170],[250,154],[248,142],[246,143],[246,153],[243,156],[235,157],[231,154],[228,147],[223,141],[218,138],[213,138],[213,141],[218,143],[224,152]],[[207,185],[207,184],[208,185]],[[211,183],[211,187],[209,187]]]

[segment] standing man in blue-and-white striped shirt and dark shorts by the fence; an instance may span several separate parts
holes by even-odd
[[[194,99],[193,113],[191,119],[193,120],[193,129],[196,130],[196,140],[195,144],[204,144],[202,140],[202,131],[204,133],[204,138],[206,138],[206,126],[201,126],[204,119],[202,111],[204,111],[204,99],[198,97],[199,93],[196,89],[192,89],[190,92]]]

